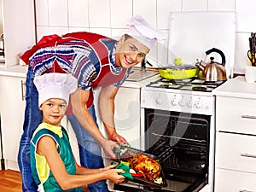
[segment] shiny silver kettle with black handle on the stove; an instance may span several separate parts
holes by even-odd
[[[225,70],[225,55],[220,49],[212,48],[206,51],[206,54],[209,55],[212,52],[216,52],[221,55],[222,62],[218,63],[214,60],[214,57],[210,57],[210,62],[206,63],[205,61],[198,61],[195,65],[199,68],[198,78],[205,81],[224,81],[227,79],[226,70]]]

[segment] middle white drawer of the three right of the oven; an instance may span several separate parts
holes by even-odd
[[[256,173],[256,137],[217,132],[215,165]]]

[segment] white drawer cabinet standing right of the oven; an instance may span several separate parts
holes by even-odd
[[[256,99],[216,97],[215,191],[256,191]]]

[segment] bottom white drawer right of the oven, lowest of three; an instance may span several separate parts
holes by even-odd
[[[217,169],[215,192],[256,192],[256,174]]]

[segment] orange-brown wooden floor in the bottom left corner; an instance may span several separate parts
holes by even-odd
[[[21,192],[20,172],[13,170],[0,171],[0,191],[1,192]]]

